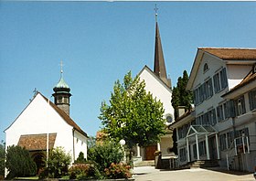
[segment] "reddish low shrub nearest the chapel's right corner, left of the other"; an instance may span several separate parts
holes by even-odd
[[[69,168],[69,179],[88,180],[101,178],[97,165],[93,163],[75,164]]]

